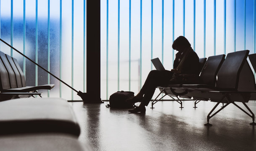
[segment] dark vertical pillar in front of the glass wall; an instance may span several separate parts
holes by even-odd
[[[87,69],[85,103],[102,103],[100,99],[100,0],[87,0]]]

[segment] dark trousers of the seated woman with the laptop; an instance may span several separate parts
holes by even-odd
[[[148,73],[148,77],[140,90],[140,93],[144,94],[141,103],[148,106],[156,87],[168,84],[168,81],[172,78],[172,72],[169,70],[159,71],[152,70]]]

